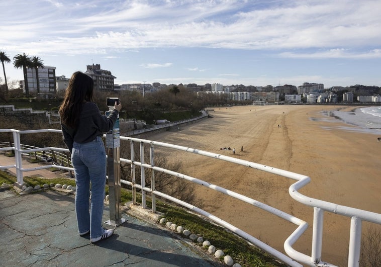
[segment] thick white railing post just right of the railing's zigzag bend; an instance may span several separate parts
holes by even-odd
[[[314,224],[312,232],[312,250],[311,258],[313,263],[318,264],[322,258],[322,243],[323,243],[323,215],[324,210],[314,207]]]

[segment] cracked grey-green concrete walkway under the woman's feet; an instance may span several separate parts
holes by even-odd
[[[0,155],[0,165],[6,163]],[[38,170],[41,173],[49,170]],[[29,175],[29,173],[27,174]],[[123,212],[128,221],[95,244],[77,231],[74,195],[49,189],[0,192],[2,266],[222,266],[207,252],[166,228]],[[105,206],[104,221],[110,218]]]

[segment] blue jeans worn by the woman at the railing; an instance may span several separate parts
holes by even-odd
[[[103,207],[106,186],[106,151],[101,137],[88,143],[74,142],[71,162],[75,174],[75,214],[78,231],[90,230],[90,238],[103,235]],[[91,204],[89,207],[91,182]]]

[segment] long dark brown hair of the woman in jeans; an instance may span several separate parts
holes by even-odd
[[[90,76],[80,71],[71,75],[63,102],[59,107],[62,124],[73,129],[77,127],[83,103],[93,101],[93,88],[94,81]]]

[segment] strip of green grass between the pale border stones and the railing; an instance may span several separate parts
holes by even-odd
[[[5,171],[0,171],[0,185],[3,183],[13,185],[16,177]],[[43,184],[61,184],[75,186],[74,179],[46,179],[44,177],[24,177],[24,182],[28,186],[35,187]],[[109,194],[109,187],[106,186],[106,194]],[[137,194],[137,202],[141,203],[141,195]],[[121,203],[132,201],[131,190],[121,188]],[[147,207],[152,207],[147,196]],[[238,237],[223,227],[208,222],[202,217],[189,213],[186,209],[173,206],[163,201],[156,202],[157,211],[164,214],[167,221],[181,225],[190,232],[203,236],[204,240],[209,240],[217,249],[222,249],[225,255],[230,255],[235,262],[239,262],[242,266],[287,266],[276,261],[271,255],[259,248],[251,246],[244,239]],[[207,251],[207,249],[206,249]]]

